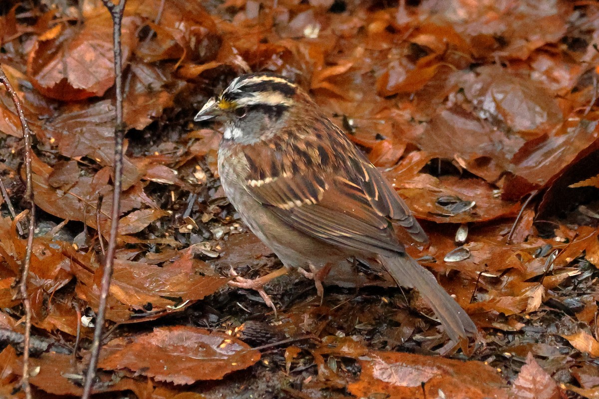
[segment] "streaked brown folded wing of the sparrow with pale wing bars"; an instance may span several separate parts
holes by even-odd
[[[256,200],[298,230],[358,251],[403,251],[391,221],[426,241],[395,190],[343,132],[328,120],[317,121],[311,129],[320,134],[301,140],[282,134],[268,147],[244,148],[246,190]]]

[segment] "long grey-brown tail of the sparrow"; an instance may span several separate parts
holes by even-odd
[[[447,294],[431,272],[407,254],[396,257],[380,257],[383,266],[398,285],[416,288],[434,310],[452,340],[473,336],[476,325],[461,306]]]

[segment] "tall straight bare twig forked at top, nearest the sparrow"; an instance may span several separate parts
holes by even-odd
[[[116,234],[119,227],[120,214],[120,191],[123,179],[123,136],[125,135],[125,126],[123,124],[123,77],[120,31],[123,22],[126,0],[120,0],[118,5],[111,2],[111,0],[102,0],[102,2],[104,3],[105,7],[108,8],[108,11],[110,11],[110,16],[113,20],[114,83],[116,88],[116,124],[114,127],[114,191],[110,215],[110,237],[108,239],[108,249],[106,251],[104,270],[102,273],[98,313],[96,313],[96,327],[93,331],[93,342],[92,348],[90,349],[89,366],[87,367],[85,384],[83,386],[83,395],[81,395],[81,399],[89,399],[89,396],[92,392],[93,380],[96,375],[96,367],[98,366],[98,357],[102,340],[102,328],[104,327],[108,290],[110,289],[110,278],[113,271],[114,253],[116,252]]]

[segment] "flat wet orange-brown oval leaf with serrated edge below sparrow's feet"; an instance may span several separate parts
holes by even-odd
[[[102,348],[98,366],[105,370],[126,368],[157,381],[188,385],[221,379],[259,359],[260,352],[234,337],[177,326],[108,342]]]

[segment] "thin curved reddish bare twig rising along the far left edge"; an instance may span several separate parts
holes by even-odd
[[[23,307],[25,307],[25,337],[23,338],[23,378],[22,384],[25,390],[25,397],[31,398],[31,385],[29,385],[29,339],[31,338],[31,301],[27,294],[27,277],[29,276],[29,266],[31,265],[31,252],[34,245],[34,231],[35,231],[35,203],[34,203],[34,188],[31,173],[31,129],[25,119],[25,113],[23,107],[17,96],[17,92],[14,91],[13,86],[8,81],[8,77],[4,73],[4,69],[0,66],[0,81],[6,87],[8,94],[13,100],[14,107],[17,109],[17,115],[21,121],[21,127],[23,129],[23,141],[25,142],[25,199],[29,202],[29,233],[27,237],[27,248],[25,250],[25,259],[23,260],[21,267],[21,277],[19,281],[19,293],[21,300],[23,301]]]

